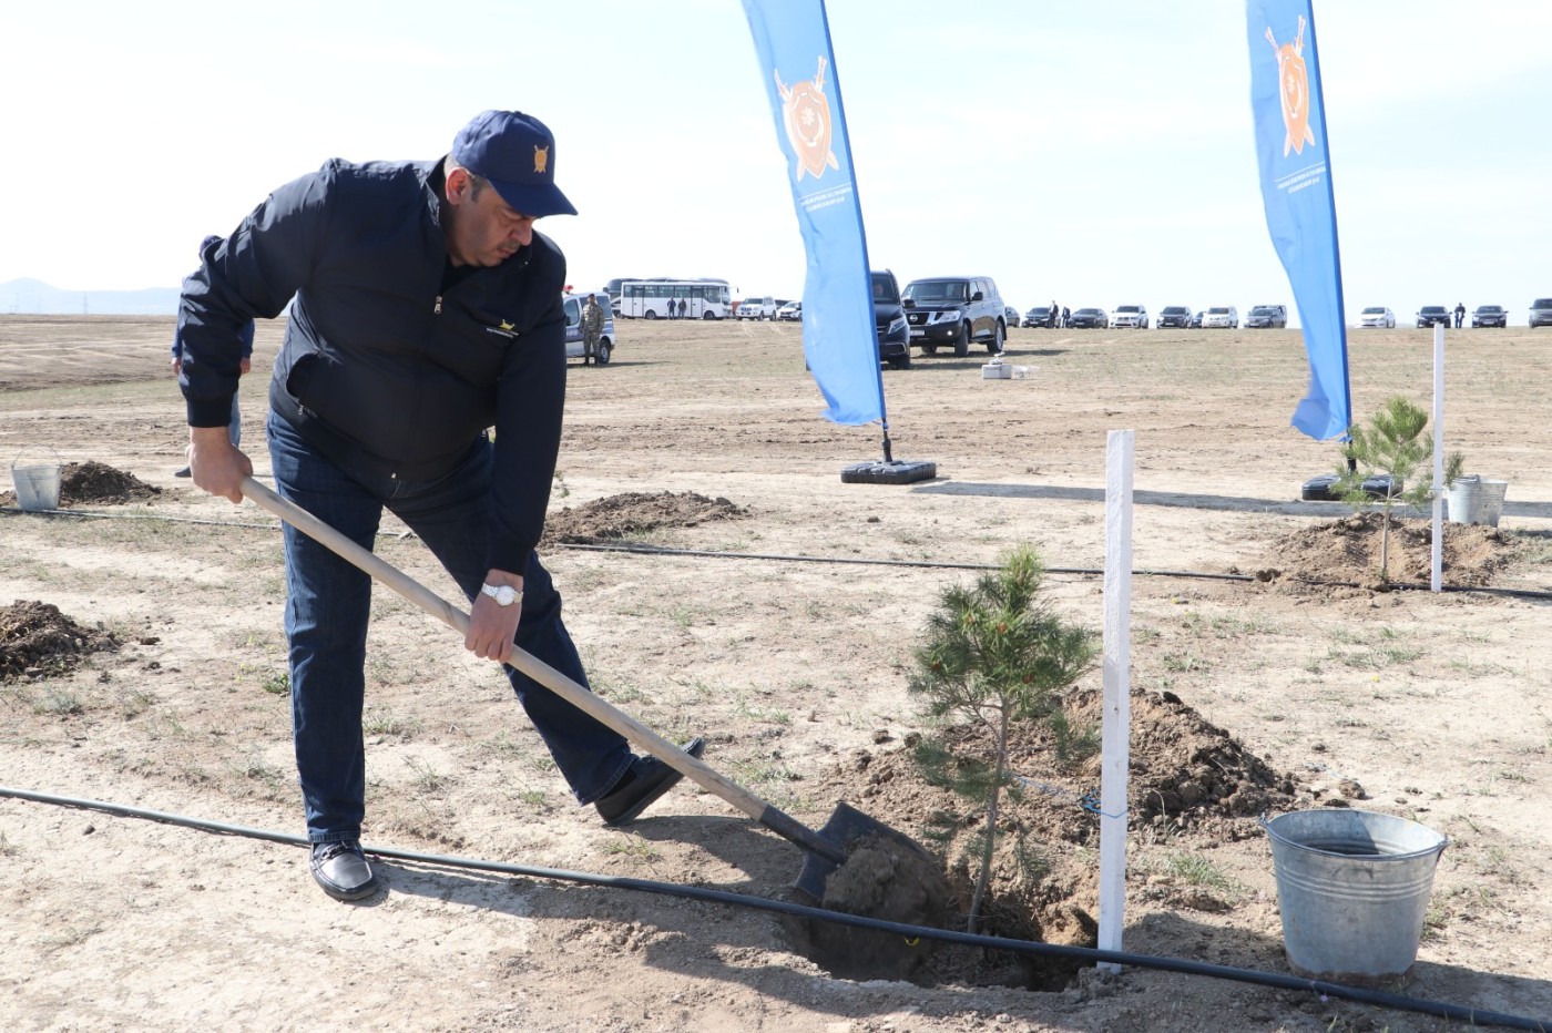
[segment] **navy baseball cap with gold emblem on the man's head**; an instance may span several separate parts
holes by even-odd
[[[574,216],[556,186],[556,135],[523,112],[481,112],[458,130],[453,161],[490,180],[525,216]]]

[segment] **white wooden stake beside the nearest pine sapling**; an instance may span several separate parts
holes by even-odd
[[[1105,450],[1105,724],[1099,816],[1099,948],[1121,949],[1127,903],[1127,771],[1131,754],[1131,454],[1135,431]],[[1119,973],[1121,966],[1099,968]]]

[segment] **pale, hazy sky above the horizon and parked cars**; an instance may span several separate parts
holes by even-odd
[[[1552,296],[1552,3],[1316,0],[1349,323]],[[830,0],[875,267],[1020,309],[1284,301],[1242,0]],[[0,282],[172,287],[329,157],[435,158],[512,107],[556,132],[571,282],[801,296],[737,0],[6,5]]]

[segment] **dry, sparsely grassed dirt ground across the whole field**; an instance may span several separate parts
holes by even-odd
[[[242,388],[261,476],[281,330],[259,327]],[[168,320],[0,318],[0,459],[73,464],[70,516],[0,499],[0,783],[293,836],[279,540],[258,507],[172,478],[169,335]],[[1020,543],[1049,565],[1052,603],[1100,628],[1105,439],[1135,430],[1125,949],[1288,973],[1257,814],[1361,807],[1450,836],[1405,993],[1552,1017],[1552,335],[1450,335],[1451,448],[1510,489],[1496,530],[1448,527],[1462,591],[1443,594],[1377,591],[1374,523],[1297,501],[1336,464],[1287,425],[1297,332],[1017,330],[1021,380],[981,378],[984,355],[885,371],[894,454],[939,464],[914,485],[840,481],[882,454],[878,433],[818,416],[796,326],[619,337],[610,366],[573,364],[545,548],[601,695],[670,738],[705,734],[709,763],[805,824],[846,800],[913,836],[962,907],[975,819],[913,762],[931,729],[911,650],[945,588]],[[1428,405],[1429,343],[1355,332],[1355,411],[1394,392]],[[399,530],[379,554],[450,594]],[[1426,582],[1426,524],[1403,526],[1392,579]],[[688,783],[601,827],[495,672],[386,589],[374,608],[368,847],[796,900],[802,853]],[[1097,692],[1091,673],[1079,715],[1097,718]],[[1051,754],[1038,734],[1015,743],[1032,788],[1004,830],[1034,864],[999,855],[989,921],[1093,943],[1097,819],[1080,799],[1097,763]],[[14,794],[0,859],[8,1028],[1462,1025],[967,948],[917,982],[843,979],[781,915],[542,872],[382,859],[386,890],[346,906],[289,842]]]

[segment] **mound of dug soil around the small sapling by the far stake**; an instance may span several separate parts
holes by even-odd
[[[1380,580],[1381,513],[1356,513],[1287,535],[1265,557],[1263,582],[1307,579],[1318,582]],[[1487,524],[1445,524],[1443,579],[1450,585],[1482,586],[1516,555],[1513,538]],[[1389,577],[1428,583],[1432,571],[1432,523],[1391,518]]]

